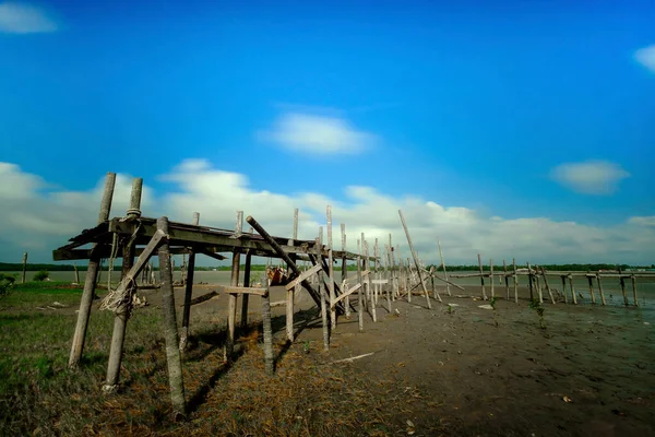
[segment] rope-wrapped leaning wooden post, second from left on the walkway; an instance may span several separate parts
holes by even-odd
[[[127,212],[129,220],[135,220],[141,215],[139,208],[141,206],[141,189],[143,187],[142,178],[132,180],[132,193],[130,196],[130,209]],[[166,232],[168,232],[168,222],[166,223]],[[168,245],[166,246],[168,247]],[[159,249],[160,250],[160,249]],[[134,264],[135,245],[133,240],[128,241],[122,249],[122,276],[124,277],[132,265]],[[170,263],[170,252],[167,250],[168,257],[166,260]],[[162,260],[159,259],[159,262]],[[170,264],[168,264],[170,265]],[[159,268],[159,270],[162,270]],[[172,277],[172,272],[169,272]],[[109,350],[109,363],[107,365],[107,380],[103,390],[112,392],[118,388],[118,379],[120,376],[120,364],[122,362],[122,347],[126,340],[126,330],[128,327],[128,318],[130,317],[131,297],[127,303],[119,306],[118,311],[114,315],[114,334],[111,335],[111,347]],[[177,335],[177,330],[176,330]],[[176,350],[179,352],[179,343],[176,343]]]

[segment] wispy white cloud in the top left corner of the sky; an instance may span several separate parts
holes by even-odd
[[[26,3],[0,3],[0,32],[33,34],[57,29],[57,23],[44,9]]]

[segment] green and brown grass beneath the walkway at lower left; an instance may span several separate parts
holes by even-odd
[[[293,346],[269,377],[259,326],[245,332],[239,357],[227,367],[225,327],[210,322],[192,327],[183,358],[192,411],[189,421],[174,422],[160,312],[154,307],[135,310],[130,319],[120,390],[105,394],[114,315],[92,312],[83,361],[69,370],[76,315],[34,309],[52,299],[76,304],[80,294],[69,285],[29,283],[0,299],[3,308],[12,307],[0,310],[0,435],[333,436],[394,429],[381,413],[395,411],[379,395],[389,387],[376,393],[353,368],[325,366],[322,354],[303,353],[302,344]]]

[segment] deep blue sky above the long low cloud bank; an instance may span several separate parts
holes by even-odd
[[[72,191],[178,191],[159,176],[196,158],[254,191],[654,216],[655,4],[449,3],[0,2],[0,162]]]

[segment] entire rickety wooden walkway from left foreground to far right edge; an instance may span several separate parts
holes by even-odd
[[[325,350],[330,347],[331,331],[336,327],[337,316],[350,317],[350,311],[357,312],[359,330],[364,330],[365,314],[376,322],[378,320],[377,311],[380,300],[382,308],[388,314],[393,311],[393,303],[396,299],[405,298],[412,302],[415,291],[425,297],[427,308],[431,308],[431,300],[441,303],[441,296],[434,286],[436,281],[445,284],[445,292],[451,296],[451,288],[464,291],[464,287],[453,283],[452,279],[460,277],[479,277],[481,285],[483,299],[488,299],[486,287],[490,287],[491,298],[496,297],[495,280],[504,282],[505,298],[519,303],[519,277],[528,276],[531,300],[538,299],[544,302],[544,291],[548,293],[550,302],[555,304],[558,300],[569,302],[567,294],[567,284],[570,288],[570,297],[573,304],[576,304],[575,290],[573,288],[573,277],[584,276],[588,280],[592,302],[595,304],[595,294],[593,288],[594,279],[598,285],[598,292],[603,305],[606,305],[602,279],[619,279],[623,294],[624,304],[629,304],[626,280],[632,282],[634,305],[638,304],[635,277],[648,276],[650,274],[634,274],[623,272],[547,272],[540,268],[517,269],[516,263],[512,262],[512,269],[508,270],[507,262],[503,261],[503,270],[493,270],[493,261],[490,260],[490,271],[483,270],[481,257],[478,255],[479,273],[474,274],[453,274],[445,271],[441,241],[438,239],[441,265],[439,268],[427,268],[416,251],[405,217],[402,211],[398,211],[401,223],[403,225],[405,237],[407,239],[410,257],[403,258],[401,246],[393,245],[392,235],[389,235],[389,241],[380,245],[378,238],[372,245],[367,241],[366,236],[357,240],[357,252],[347,251],[347,241],[345,224],[341,224],[341,250],[335,250],[332,233],[332,210],[326,206],[326,241],[323,241],[323,227],[318,231],[318,238],[313,240],[298,239],[298,210],[294,212],[294,226],[291,237],[276,237],[270,235],[266,229],[254,217],[246,217],[246,222],[251,226],[249,232],[243,232],[243,213],[237,212],[236,225],[234,229],[223,229],[216,227],[201,226],[200,214],[194,213],[192,223],[170,222],[167,217],[144,217],[141,215],[141,189],[143,180],[135,178],[132,184],[132,193],[130,208],[124,216],[110,218],[111,201],[114,197],[114,186],[116,175],[107,174],[105,191],[100,202],[100,211],[95,227],[83,231],[70,239],[70,243],[52,252],[56,261],[87,259],[88,268],[84,283],[84,290],[78,312],[78,322],[72,339],[69,366],[78,367],[82,357],[86,329],[91,316],[91,307],[95,293],[99,265],[103,259],[109,260],[109,265],[117,258],[122,259],[121,281],[116,290],[109,284],[109,294],[104,298],[100,306],[115,312],[114,334],[111,338],[111,347],[107,366],[107,378],[103,387],[106,392],[114,392],[118,388],[119,373],[121,367],[121,357],[126,327],[132,312],[133,298],[139,288],[139,277],[142,277],[141,286],[152,284],[154,269],[150,260],[158,257],[159,261],[159,291],[163,297],[163,320],[164,336],[166,343],[166,357],[168,364],[168,375],[170,381],[170,395],[174,411],[180,415],[186,415],[186,399],[182,380],[181,362],[184,353],[184,346],[189,336],[190,310],[192,306],[193,273],[195,257],[205,255],[216,260],[226,260],[231,256],[231,277],[230,285],[218,286],[217,290],[229,295],[228,299],[228,321],[227,321],[227,341],[224,349],[225,361],[233,359],[236,326],[237,326],[237,299],[241,297],[241,326],[248,323],[248,304],[250,295],[262,297],[262,319],[264,331],[264,359],[269,373],[273,373],[274,359],[271,328],[271,307],[274,304],[270,302],[269,281],[265,280],[262,286],[252,286],[250,281],[250,265],[253,256],[276,258],[284,261],[287,267],[289,280],[284,287],[286,290],[286,300],[282,305],[286,306],[286,339],[289,342],[295,340],[294,329],[294,298],[306,290],[317,307],[320,309],[323,345]],[[91,248],[84,248],[91,245]],[[372,247],[371,247],[372,246]],[[383,246],[383,248],[382,248]],[[189,262],[182,264],[182,283],[184,287],[184,303],[182,310],[181,330],[177,329],[176,305],[174,297],[172,272],[174,264],[171,255],[183,255],[188,257]],[[225,253],[225,255],[224,255]],[[239,270],[241,265],[241,256],[246,256],[243,282],[239,284]],[[184,258],[186,259],[186,258]],[[298,261],[308,261],[310,268],[301,268]],[[341,261],[342,277],[337,282],[334,275],[334,262]],[[349,272],[347,262],[355,261],[357,271]],[[441,276],[440,269],[443,270]],[[350,273],[354,273],[350,277]],[[145,276],[145,280],[144,280]],[[552,288],[548,277],[560,276],[562,281],[562,292]],[[485,279],[489,282],[485,284]],[[510,279],[512,280],[513,296],[510,293]],[[428,291],[428,283],[431,284],[431,293]],[[357,305],[350,303],[350,298],[357,294]],[[215,294],[214,294],[215,295]],[[538,297],[537,297],[538,296]],[[212,296],[201,296],[201,298],[211,298]],[[198,300],[193,299],[193,300]],[[385,302],[384,302],[385,300]],[[422,300],[422,299],[421,299]],[[279,304],[279,303],[277,303]],[[396,309],[397,310],[397,309]]]

